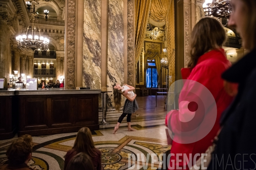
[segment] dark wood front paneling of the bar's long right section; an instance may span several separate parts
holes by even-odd
[[[77,132],[99,129],[99,94],[19,95],[18,135]]]

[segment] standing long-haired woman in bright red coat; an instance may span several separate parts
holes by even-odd
[[[212,144],[220,128],[221,113],[233,99],[225,92],[221,79],[221,74],[230,67],[221,48],[225,40],[224,29],[214,18],[203,18],[193,28],[190,61],[188,68],[181,70],[187,81],[184,80],[180,92],[179,110],[172,110],[166,116],[166,125],[173,134],[168,169],[189,170],[195,164],[199,154]],[[212,100],[210,96],[208,100],[207,91]],[[207,133],[206,129],[209,129]]]

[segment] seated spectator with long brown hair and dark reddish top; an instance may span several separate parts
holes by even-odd
[[[88,127],[82,127],[77,135],[72,150],[67,151],[64,161],[64,170],[67,170],[67,165],[77,153],[86,153],[93,162],[94,170],[101,170],[101,152],[97,150],[93,143],[92,133]]]

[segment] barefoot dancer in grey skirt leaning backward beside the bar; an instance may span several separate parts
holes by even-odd
[[[128,125],[128,131],[134,131],[134,129],[131,128],[131,113],[134,113],[138,110],[138,103],[136,101],[136,94],[134,94],[133,90],[135,90],[134,87],[130,85],[124,84],[123,86],[116,84],[113,88],[113,94],[114,94],[114,103],[116,111],[120,111],[121,108],[121,96],[125,96],[125,105],[123,109],[122,115],[119,117],[117,125],[114,129],[114,134],[116,134],[116,131],[118,130],[120,123],[122,122],[122,119],[128,114],[127,116],[127,125]]]

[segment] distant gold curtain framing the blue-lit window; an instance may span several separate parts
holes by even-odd
[[[147,60],[154,59],[155,63],[156,63],[156,68],[157,68],[158,82],[161,82],[161,64],[160,64],[161,58],[160,58],[160,56],[161,56],[160,51],[152,50],[152,49],[147,49],[147,52],[144,55],[144,70],[145,70],[144,73],[146,74],[146,71],[148,68]],[[158,82],[157,82],[157,85],[158,85]],[[146,76],[144,79],[144,83],[146,86]]]

